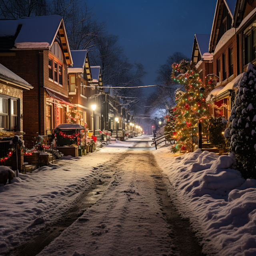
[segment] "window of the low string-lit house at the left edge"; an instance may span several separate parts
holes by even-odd
[[[4,128],[4,130],[19,130],[20,120],[18,107],[18,99],[0,96],[0,128]]]

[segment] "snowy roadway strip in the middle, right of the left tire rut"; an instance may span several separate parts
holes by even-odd
[[[104,195],[38,256],[178,255],[176,228],[168,223],[171,219],[166,211],[172,206],[167,202],[170,200],[162,171],[148,148],[148,140],[151,138],[140,139],[122,154],[112,170],[102,172],[113,172]],[[172,212],[177,221],[178,214],[174,209]],[[179,238],[186,243],[193,236],[192,232],[187,235]],[[180,255],[202,255],[195,241],[180,247]]]

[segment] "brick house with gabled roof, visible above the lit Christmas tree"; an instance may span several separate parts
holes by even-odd
[[[209,53],[210,35],[195,34],[191,62],[196,65],[199,76],[206,84],[206,76],[213,73],[213,54]]]

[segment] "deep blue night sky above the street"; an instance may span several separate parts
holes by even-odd
[[[174,52],[191,58],[194,34],[210,34],[217,0],[88,0],[99,21],[119,35],[130,62],[140,62],[155,84],[156,70]],[[152,92],[145,88],[144,92]]]

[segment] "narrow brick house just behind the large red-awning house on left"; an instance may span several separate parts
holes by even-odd
[[[74,64],[72,67],[68,67],[68,96],[72,104],[74,104],[78,110],[82,111],[83,122],[80,124],[84,125],[84,122],[86,122],[88,129],[93,130],[93,122],[91,120],[92,108],[89,101],[92,94],[94,94],[94,87],[90,86],[92,74],[88,51],[72,50],[71,54]]]

